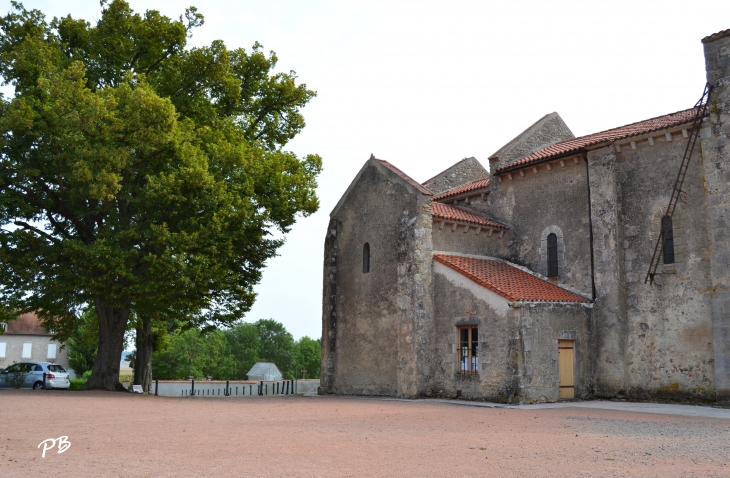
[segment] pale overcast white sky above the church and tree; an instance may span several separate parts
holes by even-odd
[[[246,320],[319,337],[329,213],[370,153],[418,181],[487,157],[547,113],[576,136],[689,108],[705,84],[700,40],[730,1],[130,1],[205,15],[193,45],[259,41],[318,92],[289,145],[324,160],[321,209],[269,261]],[[98,0],[30,1],[94,21]],[[0,12],[10,3],[1,1]]]

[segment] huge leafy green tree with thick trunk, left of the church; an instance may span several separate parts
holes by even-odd
[[[186,49],[194,8],[171,20],[102,5],[93,26],[17,3],[0,19],[15,89],[0,103],[0,292],[61,338],[92,304],[87,387],[114,389],[131,313],[139,334],[145,320],[205,328],[251,307],[282,244],[270,231],[318,207],[321,160],[281,149],[314,92],[272,74],[276,55]]]

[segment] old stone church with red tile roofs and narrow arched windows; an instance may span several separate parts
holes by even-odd
[[[684,111],[552,113],[422,184],[371,157],[330,215],[320,393],[729,401],[730,30],[702,42]]]

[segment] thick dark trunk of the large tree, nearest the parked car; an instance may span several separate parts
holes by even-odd
[[[124,390],[119,383],[119,364],[124,348],[124,333],[129,321],[129,310],[94,303],[99,316],[99,348],[86,390]]]

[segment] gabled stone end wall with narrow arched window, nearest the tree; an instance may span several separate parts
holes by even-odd
[[[423,386],[417,362],[430,332],[430,198],[370,160],[333,212],[322,393],[415,396]],[[370,272],[363,273],[366,242]]]

